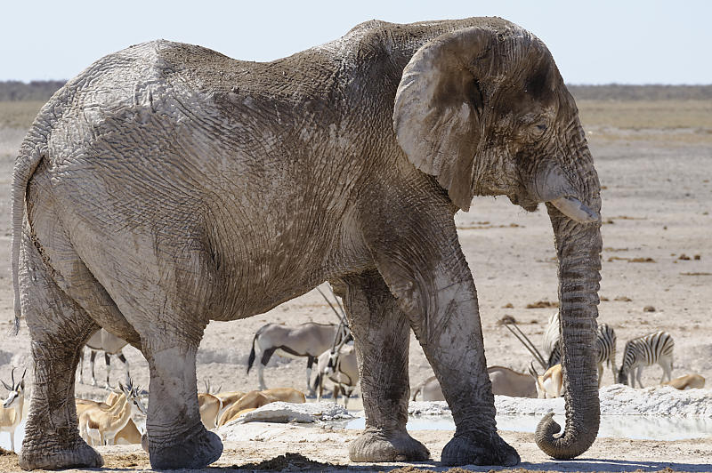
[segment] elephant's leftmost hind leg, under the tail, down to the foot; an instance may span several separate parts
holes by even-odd
[[[79,437],[74,403],[79,354],[99,326],[61,291],[52,274],[26,235],[20,251],[20,287],[35,374],[20,468],[101,467],[101,455]]]

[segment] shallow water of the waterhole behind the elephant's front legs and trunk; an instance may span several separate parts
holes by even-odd
[[[542,415],[498,415],[497,428],[514,432],[534,432]],[[563,427],[563,415],[554,415]],[[363,429],[365,419],[347,421],[346,429]],[[455,430],[452,417],[409,417],[409,430]],[[598,437],[631,438],[637,440],[683,440],[712,437],[712,418],[660,417],[643,415],[602,415]]]

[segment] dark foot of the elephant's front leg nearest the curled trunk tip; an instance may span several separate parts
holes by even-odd
[[[456,434],[442,449],[441,462],[445,465],[501,465],[511,467],[519,463],[519,453],[497,432],[490,435]]]

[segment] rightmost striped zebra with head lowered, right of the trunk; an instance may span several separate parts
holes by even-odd
[[[642,337],[626,342],[626,349],[623,350],[623,362],[618,373],[618,382],[627,384],[630,379],[630,386],[635,388],[635,380],[643,388],[640,381],[643,368],[654,364],[662,367],[663,373],[660,382],[672,378],[673,371],[673,348],[675,341],[672,335],[667,332],[648,333]],[[635,376],[634,376],[635,374]]]

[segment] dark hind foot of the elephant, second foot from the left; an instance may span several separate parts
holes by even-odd
[[[200,428],[172,445],[153,445],[149,442],[151,468],[201,469],[219,459],[223,454],[220,437],[208,432],[202,424]]]

